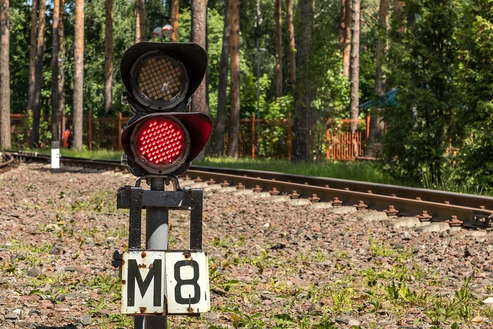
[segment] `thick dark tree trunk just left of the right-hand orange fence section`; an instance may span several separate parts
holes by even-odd
[[[312,87],[310,48],[313,25],[313,4],[311,0],[299,0],[299,24],[297,38],[297,71],[294,93],[295,112],[293,118],[293,161],[310,160],[310,112]]]

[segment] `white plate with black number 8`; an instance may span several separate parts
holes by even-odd
[[[204,252],[166,252],[168,314],[211,309],[207,256]]]

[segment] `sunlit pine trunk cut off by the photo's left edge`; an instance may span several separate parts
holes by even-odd
[[[0,149],[10,149],[9,0],[0,0]]]

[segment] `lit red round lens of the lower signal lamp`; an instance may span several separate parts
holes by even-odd
[[[153,165],[170,165],[185,152],[185,133],[175,121],[145,121],[136,134],[137,153]]]

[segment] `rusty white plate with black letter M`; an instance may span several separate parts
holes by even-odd
[[[128,251],[123,254],[123,261],[122,313],[162,314],[164,252]]]

